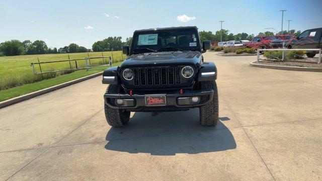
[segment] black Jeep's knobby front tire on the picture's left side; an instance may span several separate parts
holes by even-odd
[[[119,94],[121,91],[120,85],[112,85],[110,84],[106,93],[108,94]],[[105,117],[107,123],[112,127],[122,127],[129,122],[130,113],[126,110],[121,109],[112,109],[104,103]]]

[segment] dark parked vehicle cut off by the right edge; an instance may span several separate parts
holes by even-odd
[[[322,48],[322,28],[303,31],[300,35],[288,41],[287,48],[315,49]],[[306,51],[307,57],[314,57],[318,51]]]

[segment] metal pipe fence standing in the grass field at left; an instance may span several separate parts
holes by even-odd
[[[92,64],[91,59],[98,59],[102,58],[103,64]],[[108,61],[106,61],[108,59]],[[85,67],[82,67],[77,63],[78,61],[85,61]],[[48,63],[59,63],[59,62],[69,62],[69,68],[68,69],[61,69],[61,70],[52,70],[52,71],[42,71],[41,64],[48,64]],[[75,67],[73,68],[71,65],[71,62],[75,63]],[[40,72],[37,72],[35,65],[39,65],[39,70]],[[77,58],[77,59],[68,59],[68,60],[57,60],[57,61],[46,61],[46,62],[33,62],[31,63],[32,69],[34,74],[43,74],[43,73],[52,73],[52,72],[60,72],[60,71],[70,71],[70,70],[81,70],[81,69],[86,69],[89,70],[90,68],[94,67],[100,67],[100,66],[107,66],[110,65],[112,66],[113,64],[113,59],[112,56],[95,56],[95,57],[85,57],[85,58]]]

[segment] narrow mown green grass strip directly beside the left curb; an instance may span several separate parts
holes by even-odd
[[[114,63],[113,66],[118,66],[119,64],[121,64],[121,62]],[[38,82],[34,82],[34,83],[24,84],[24,85],[16,86],[13,88],[5,89],[5,90],[0,91],[0,102],[6,101],[6,100],[9,100],[11,98],[15,98],[15,97],[18,97],[21,95],[25,95],[28,93],[32,93],[35,91],[39,91],[40,89],[47,88],[47,87],[50,87],[53,85],[58,85],[60,83],[64,83],[64,82],[67,82],[70,80],[74,80],[74,79],[81,78],[81,77],[84,77],[87,75],[98,73],[98,72],[101,72],[109,67],[110,66],[95,67],[95,68],[89,69],[88,71],[78,70],[78,71],[74,71],[69,74],[60,75],[60,76],[57,76],[54,78],[50,78],[50,79],[46,79],[46,80],[42,80],[42,81],[38,81]]]

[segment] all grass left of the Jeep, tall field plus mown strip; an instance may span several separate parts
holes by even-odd
[[[90,57],[93,56],[112,56],[112,52],[89,52]],[[88,53],[68,53],[68,54],[42,54],[42,55],[21,55],[21,56],[8,56],[0,57],[0,102],[5,101],[17,96],[28,94],[34,91],[38,91],[42,88],[57,85],[66,81],[70,81],[76,78],[87,76],[93,73],[103,71],[108,68],[104,67],[94,67],[89,71],[77,70],[74,72],[57,72],[57,73],[46,73],[41,76],[41,74],[34,75],[31,67],[32,62],[46,61],[58,61],[58,60],[68,60],[85,58]],[[126,55],[122,55],[121,51],[113,52],[113,65],[118,65],[125,59]],[[106,64],[109,59],[92,59],[91,64],[100,65]],[[116,63],[117,62],[117,63]],[[64,70],[69,69],[70,66],[75,68],[75,62],[57,62],[41,64],[42,71],[52,71],[52,70]],[[39,65],[35,65],[37,72],[40,72]],[[85,60],[78,60],[77,67],[85,67]],[[68,74],[66,74],[68,73]]]

